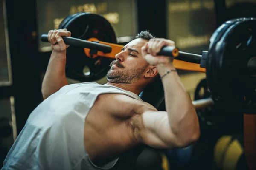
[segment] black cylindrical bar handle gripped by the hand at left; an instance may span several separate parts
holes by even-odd
[[[90,48],[91,50],[102,51],[103,53],[110,53],[112,48],[110,45],[99,44],[97,42],[91,42],[87,40],[81,40],[73,37],[62,37],[66,45],[74,45],[83,48]],[[47,34],[41,35],[42,42],[49,42]]]

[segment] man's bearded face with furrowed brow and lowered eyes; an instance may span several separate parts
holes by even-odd
[[[111,62],[111,68],[107,73],[108,82],[132,83],[143,77],[148,63],[141,55],[141,47],[146,42],[148,41],[141,38],[132,40],[116,54],[116,60]]]

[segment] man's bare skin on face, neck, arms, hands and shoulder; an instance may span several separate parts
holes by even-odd
[[[66,48],[61,36],[67,30],[49,31],[52,55],[45,74],[42,93],[46,99],[67,85],[65,77]],[[137,95],[159,74],[174,69],[170,57],[157,56],[163,46],[174,46],[166,39],[135,39],[116,54],[107,74],[109,85]],[[85,119],[84,146],[90,159],[117,156],[138,144],[155,148],[185,147],[200,135],[195,108],[177,72],[170,72],[163,80],[166,111],[123,94],[100,95]]]

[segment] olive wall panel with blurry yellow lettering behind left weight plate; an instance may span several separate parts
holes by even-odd
[[[65,17],[90,12],[105,17],[113,26],[116,37],[137,33],[135,0],[37,0],[38,35],[58,29]],[[39,42],[41,51],[49,44]]]

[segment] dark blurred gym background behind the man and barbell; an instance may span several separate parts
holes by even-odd
[[[208,50],[209,38],[221,23],[256,17],[256,0],[0,0],[0,167],[29,114],[42,102],[41,82],[51,47],[40,36],[58,29],[64,17],[77,12],[104,16],[119,44],[148,30],[175,41],[180,51],[201,54]],[[205,74],[179,74],[194,100]],[[96,82],[104,84],[106,78]],[[212,108],[201,111],[202,135],[197,143],[183,149],[150,152],[150,148],[137,169],[247,170],[243,116],[225,115]]]

